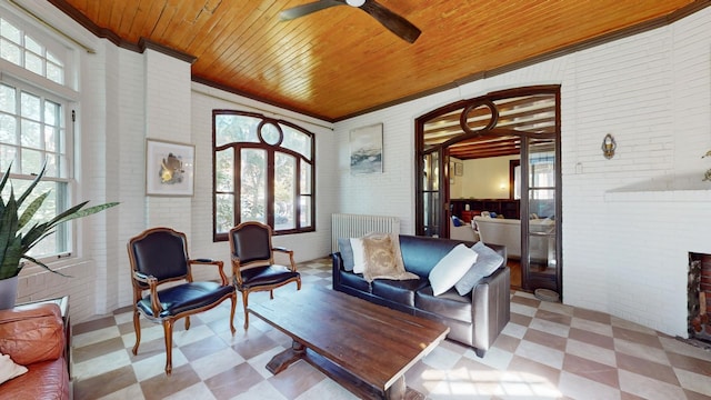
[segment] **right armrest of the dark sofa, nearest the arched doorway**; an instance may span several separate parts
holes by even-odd
[[[474,343],[478,356],[489,350],[511,319],[511,270],[501,267],[471,292]]]

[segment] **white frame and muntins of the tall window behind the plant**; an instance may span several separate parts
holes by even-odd
[[[53,157],[57,157],[57,171],[56,173],[50,173],[48,171],[48,173],[42,178],[42,184],[52,187],[51,196],[56,198],[53,213],[59,213],[67,210],[73,203],[77,191],[77,181],[74,179],[74,170],[77,168],[74,159],[74,146],[77,144],[74,138],[74,110],[78,108],[79,99],[79,92],[74,90],[76,77],[78,76],[77,62],[74,59],[77,57],[77,49],[68,46],[64,41],[54,39],[41,28],[21,21],[12,13],[3,13],[1,17],[14,29],[19,30],[22,38],[28,36],[42,47],[43,53],[34,54],[43,59],[43,62],[48,62],[47,51],[51,51],[52,56],[62,63],[62,82],[59,83],[47,78],[47,68],[44,64],[42,67],[44,74],[38,74],[28,69],[24,63],[17,64],[0,58],[0,70],[2,71],[0,73],[0,83],[14,90],[17,102],[14,111],[3,111],[3,114],[13,118],[17,121],[13,134],[17,136],[17,140],[19,141],[3,142],[3,146],[14,149],[10,180],[16,183],[16,196],[18,194],[18,188],[20,186],[29,184],[34,180],[37,173],[40,172],[39,168],[43,164],[43,161],[41,161],[37,170],[32,166],[23,166],[22,152],[37,151],[40,153],[40,157],[44,159],[47,154],[52,154]],[[20,46],[20,51],[31,51],[24,46],[24,39],[22,40],[22,46]],[[28,119],[27,116],[23,116],[22,110],[19,108],[22,93],[39,98],[40,119]],[[47,126],[44,117],[47,116],[46,110],[49,102],[54,103],[60,108],[60,112],[57,116],[60,120],[54,124]],[[41,132],[39,139],[44,141],[44,143],[47,143],[47,137],[44,133],[46,128],[56,128],[57,132],[54,134],[60,136],[54,142],[56,148],[49,149],[44,143],[40,143],[37,147],[26,144],[22,140],[22,133],[28,132],[24,132],[22,129],[23,120],[39,124],[39,130]],[[2,172],[7,169],[9,162],[10,160],[8,158],[6,162],[2,163]],[[6,189],[9,190],[9,187]],[[40,192],[43,191],[38,191],[34,194],[39,196]],[[34,196],[32,198],[34,198]],[[31,199],[28,199],[27,203],[29,203],[29,200]],[[74,222],[62,223],[57,228],[53,237],[56,238],[56,242],[59,244],[54,247],[52,252],[39,254],[37,257],[39,261],[49,264],[60,260],[78,257],[78,229]],[[43,243],[46,242],[47,241],[43,241]],[[41,243],[38,249],[39,248],[41,248]],[[34,266],[27,260],[23,260],[22,263],[28,266],[23,269],[23,273],[33,273],[40,269],[39,266]]]

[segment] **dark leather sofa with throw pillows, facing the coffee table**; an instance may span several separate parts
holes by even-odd
[[[505,247],[491,244],[503,257],[498,269],[479,281],[470,293],[452,288],[433,296],[429,273],[459,243],[472,242],[400,234],[404,268],[419,279],[375,279],[347,271],[340,252],[332,254],[333,289],[410,314],[439,320],[450,328],[448,339],[474,348],[483,357],[510,319],[511,272],[505,266]]]

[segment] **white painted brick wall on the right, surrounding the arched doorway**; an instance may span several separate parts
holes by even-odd
[[[493,90],[561,84],[563,299],[685,336],[688,252],[711,251],[711,10],[337,124],[341,212],[414,230],[412,121]],[[384,173],[351,176],[353,128],[384,123]],[[618,142],[602,157],[604,134]],[[385,200],[383,200],[385,199]]]

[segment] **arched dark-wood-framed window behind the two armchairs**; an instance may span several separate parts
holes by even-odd
[[[274,233],[314,230],[313,133],[251,112],[214,110],[213,237],[244,221]]]

